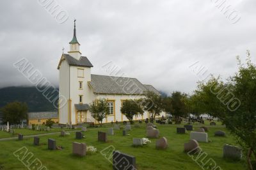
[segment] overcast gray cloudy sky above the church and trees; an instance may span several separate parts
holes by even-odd
[[[47,1],[67,20],[49,13]],[[111,63],[166,93],[191,93],[210,73],[234,74],[246,50],[256,61],[255,9],[255,0],[1,1],[0,88],[33,85],[13,67],[21,58],[58,86],[61,49],[69,50],[76,19],[92,73],[109,75],[102,66]]]

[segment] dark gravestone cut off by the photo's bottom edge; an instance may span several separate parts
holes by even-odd
[[[134,170],[136,169],[136,158],[119,151],[113,151],[114,170]]]

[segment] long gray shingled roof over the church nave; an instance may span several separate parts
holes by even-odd
[[[92,74],[91,79],[92,81],[88,83],[93,93],[143,95],[146,91],[153,91],[160,95],[153,86],[143,85],[135,78]]]

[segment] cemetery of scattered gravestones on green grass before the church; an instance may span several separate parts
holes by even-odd
[[[35,137],[26,135],[36,134],[36,130],[15,131],[19,133],[16,139],[0,141],[0,165],[6,169],[22,166],[12,153],[23,146],[40,158],[47,169],[60,169],[63,164],[67,169],[118,169],[112,163],[122,157],[137,169],[201,169],[188,155],[198,146],[211,155],[221,169],[244,169],[245,164],[234,137],[220,122],[210,125],[206,121],[204,128],[197,122],[187,126],[187,123],[147,124],[143,121],[140,127],[136,123],[109,123],[96,128],[55,128],[50,132],[57,133]],[[9,137],[5,134],[8,133],[1,131],[0,137]],[[109,146],[113,150],[106,150]],[[106,154],[109,153],[113,153],[115,160],[112,157],[108,160]]]

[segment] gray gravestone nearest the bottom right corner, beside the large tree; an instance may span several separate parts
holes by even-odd
[[[237,146],[225,144],[223,146],[223,157],[240,160],[242,157],[242,149]]]

